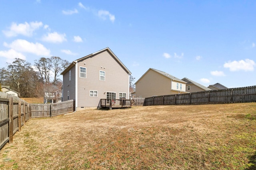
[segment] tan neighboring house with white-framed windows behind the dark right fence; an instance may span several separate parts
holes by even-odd
[[[154,68],[149,68],[135,85],[137,98],[186,93],[185,81]]]

